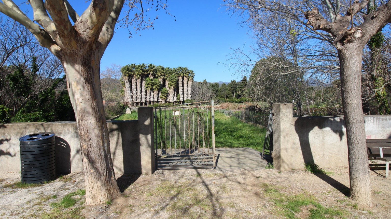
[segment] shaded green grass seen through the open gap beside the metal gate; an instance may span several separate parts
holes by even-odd
[[[216,147],[249,147],[262,152],[266,129],[244,123],[235,117],[215,112]]]

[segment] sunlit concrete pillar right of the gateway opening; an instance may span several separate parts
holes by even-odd
[[[294,132],[292,123],[291,103],[273,104],[273,165],[278,171],[291,170],[290,159],[292,155],[288,154],[288,148],[291,147],[289,134]],[[294,159],[294,158],[293,158]]]

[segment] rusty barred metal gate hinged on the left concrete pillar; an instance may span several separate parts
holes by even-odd
[[[215,168],[214,102],[155,108],[157,169]]]

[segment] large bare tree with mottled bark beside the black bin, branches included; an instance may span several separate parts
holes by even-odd
[[[29,0],[34,20],[12,0],[0,3],[0,12],[25,26],[63,64],[79,130],[88,205],[97,205],[120,194],[111,160],[99,64],[113,37],[124,2],[92,0],[79,16],[68,0]],[[134,25],[136,31],[151,26],[154,19],[144,19],[145,12],[151,9],[147,7],[149,2],[152,1],[128,1],[129,11],[121,24]],[[165,6],[157,0],[152,7],[158,10]]]

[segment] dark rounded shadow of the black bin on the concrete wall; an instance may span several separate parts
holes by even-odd
[[[57,174],[71,173],[71,148],[65,139],[56,136]]]

